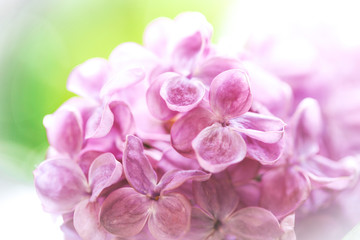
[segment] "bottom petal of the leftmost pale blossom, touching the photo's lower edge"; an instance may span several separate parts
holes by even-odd
[[[74,212],[74,227],[82,239],[106,240],[107,231],[99,221],[100,206],[98,203],[90,203],[88,200],[80,202]]]

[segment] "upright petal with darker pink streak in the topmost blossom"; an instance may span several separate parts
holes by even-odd
[[[203,49],[203,39],[200,32],[182,39],[174,48],[171,60],[175,72],[189,76],[194,69],[199,54]]]

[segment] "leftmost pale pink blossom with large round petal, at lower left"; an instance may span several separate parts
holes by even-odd
[[[71,221],[77,234],[99,240],[107,239],[108,235],[98,221],[100,196],[104,189],[118,183],[121,176],[122,165],[111,153],[94,159],[88,178],[70,159],[47,160],[34,172],[44,209],[51,213],[73,212]]]

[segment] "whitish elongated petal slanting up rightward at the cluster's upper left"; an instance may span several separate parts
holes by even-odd
[[[113,73],[109,81],[101,88],[100,97],[110,99],[116,93],[143,81],[145,74],[141,68],[130,68]]]

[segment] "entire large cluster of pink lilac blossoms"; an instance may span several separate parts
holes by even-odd
[[[80,97],[45,117],[34,171],[66,239],[295,239],[297,214],[357,183],[318,101],[211,35],[199,13],[159,18],[70,74]]]

